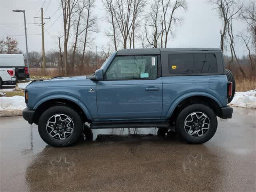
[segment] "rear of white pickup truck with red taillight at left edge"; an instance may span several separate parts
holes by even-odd
[[[0,68],[0,87],[16,84],[15,68]]]

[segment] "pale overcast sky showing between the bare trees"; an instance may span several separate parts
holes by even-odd
[[[23,14],[12,12],[14,9],[26,10],[28,51],[41,51],[41,26],[34,24],[35,22],[39,23],[40,19],[35,19],[34,16],[41,15],[39,10],[43,2],[44,0],[0,0],[0,39],[5,38],[6,35],[12,36],[18,40],[19,49],[26,52],[24,25],[22,25],[24,23]],[[182,13],[184,21],[176,27],[176,37],[169,40],[167,47],[219,48],[221,21],[216,10],[213,10],[212,5],[208,4],[206,0],[187,0],[187,2],[188,11]],[[59,0],[45,0],[43,8],[44,17],[51,16],[50,20],[44,20],[46,23],[44,25],[45,50],[58,50],[56,36],[62,34],[63,31],[62,9],[58,9]],[[92,50],[96,49],[96,45],[100,48],[110,41],[104,34],[104,30],[109,26],[103,18],[104,11],[101,0],[96,0],[94,14],[98,16],[100,32],[94,35],[95,46],[92,46]],[[242,21],[234,22],[235,35],[245,28],[246,25]],[[247,54],[244,44],[238,38],[236,38],[236,51],[239,56]]]

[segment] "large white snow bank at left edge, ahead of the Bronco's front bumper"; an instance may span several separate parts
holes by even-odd
[[[24,108],[26,108],[26,103],[23,96],[0,97],[0,111],[9,109],[23,110]]]

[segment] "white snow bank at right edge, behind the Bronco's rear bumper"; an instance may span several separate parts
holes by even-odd
[[[256,108],[256,90],[236,92],[230,105],[235,107]]]

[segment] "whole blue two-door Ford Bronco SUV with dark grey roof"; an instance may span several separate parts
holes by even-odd
[[[215,48],[114,52],[90,76],[32,81],[23,117],[51,146],[69,146],[90,129],[174,128],[188,143],[214,136],[217,116],[232,118],[234,76]]]

